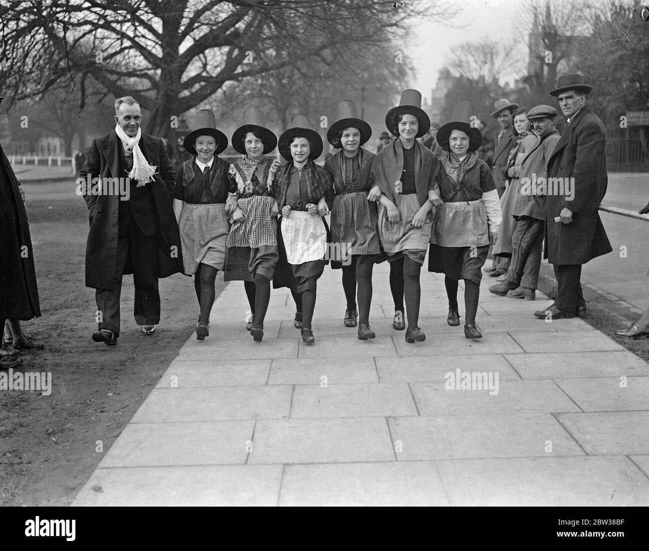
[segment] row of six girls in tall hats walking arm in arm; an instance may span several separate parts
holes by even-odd
[[[329,260],[342,269],[343,323],[358,326],[358,339],[373,339],[373,266],[387,260],[393,327],[406,330],[408,343],[424,341],[420,273],[429,246],[429,271],[446,275],[448,323],[459,325],[463,278],[465,336],[481,337],[475,326],[481,268],[496,238],[500,206],[487,165],[473,153],[482,143],[480,131],[468,123],[468,106],[460,107],[437,134],[446,151],[439,161],[417,141],[430,128],[417,90],[404,90],[387,113],[396,139],[376,155],[361,147],[371,136],[369,125],[354,102],[342,101],[327,132],[340,151],[324,167],[315,164],[323,141],[304,116],[293,117],[277,140],[263,113],[247,109],[232,136],[243,158],[230,164],[218,158],[227,138],[216,129],[214,114],[199,112],[184,142],[194,158],[180,169],[174,201],[185,273],[195,276],[197,339],[209,335],[215,276],[222,270],[224,280],[244,281],[254,341],[263,339],[272,280],[273,288],[290,289],[293,324],[304,343],[313,343],[317,280]],[[284,165],[267,156],[276,146]],[[324,220],[329,213],[331,229]]]

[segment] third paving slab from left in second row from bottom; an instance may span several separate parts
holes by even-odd
[[[584,455],[550,413],[391,417],[389,424],[397,461]]]

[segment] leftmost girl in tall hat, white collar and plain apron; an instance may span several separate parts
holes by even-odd
[[[214,282],[217,272],[223,270],[225,243],[230,233],[225,210],[230,163],[218,157],[227,147],[228,138],[216,129],[212,110],[197,112],[194,128],[183,143],[193,158],[178,171],[173,208],[180,228],[184,273],[194,276],[201,308],[196,338],[202,341],[210,334]]]

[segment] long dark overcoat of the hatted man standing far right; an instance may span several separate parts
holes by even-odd
[[[574,178],[574,199],[550,194],[550,178]],[[598,212],[606,195],[606,129],[591,108],[583,106],[570,121],[548,160],[545,258],[551,264],[585,264],[613,251]],[[565,191],[565,188],[564,188]],[[570,224],[555,222],[563,208],[574,213]]]

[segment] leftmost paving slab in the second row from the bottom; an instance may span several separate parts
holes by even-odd
[[[254,421],[130,423],[102,467],[245,463]]]

